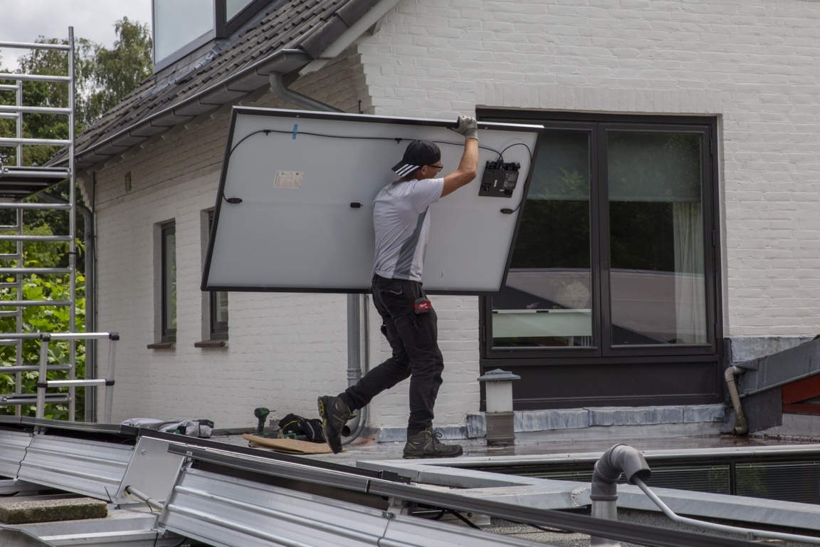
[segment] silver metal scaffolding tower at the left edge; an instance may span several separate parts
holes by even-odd
[[[0,210],[12,210],[16,212],[16,224],[11,226],[0,226],[0,230],[6,232],[0,235],[0,241],[13,242],[16,250],[12,253],[0,253],[0,289],[14,291],[15,299],[0,301],[0,317],[15,317],[16,329],[14,332],[0,334],[0,345],[13,345],[16,348],[16,363],[13,366],[0,367],[0,374],[15,376],[15,393],[0,394],[0,406],[16,405],[16,414],[21,414],[21,405],[32,403],[32,395],[23,394],[23,373],[38,371],[38,396],[37,416],[43,417],[45,403],[67,403],[68,415],[71,421],[75,420],[76,408],[75,388],[79,386],[99,385],[98,381],[77,380],[76,371],[76,341],[85,339],[93,335],[75,335],[76,330],[76,301],[77,301],[77,271],[76,271],[76,236],[77,236],[77,203],[76,203],[76,180],[75,180],[75,42],[74,29],[69,27],[67,43],[16,43],[0,42],[0,48],[25,49],[30,52],[57,52],[58,55],[65,55],[67,62],[67,74],[23,74],[17,71],[14,74],[0,73],[0,91],[11,92],[16,98],[15,104],[0,103],[0,118],[7,118],[16,122],[16,135],[14,138],[0,138],[0,147],[16,149],[16,165],[0,166]],[[50,51],[49,51],[50,50]],[[67,85],[68,101],[66,106],[24,106],[24,83],[43,82],[49,86]],[[24,116],[30,114],[43,114],[59,116],[58,119],[67,121],[68,139],[40,139],[26,138],[24,134]],[[67,152],[67,166],[25,166],[24,151],[27,147],[37,146],[60,146]],[[25,203],[22,200],[48,189],[62,181],[68,181],[69,198],[66,203]],[[25,212],[34,210],[57,210],[64,211],[68,215],[68,233],[61,235],[27,235],[25,234]],[[68,244],[68,267],[25,267],[23,262],[26,244],[34,242],[50,244]],[[56,252],[57,249],[55,249]],[[67,275],[69,279],[68,297],[62,300],[35,300],[24,299],[23,286],[25,280],[30,276],[43,275]],[[12,281],[7,279],[13,278]],[[67,365],[47,365],[45,369],[40,365],[26,364],[23,362],[23,343],[29,339],[41,338],[41,333],[25,333],[23,331],[23,312],[25,308],[36,307],[63,307],[68,309],[69,326],[68,332],[60,333],[65,335],[68,342],[68,364]],[[86,316],[88,317],[88,316]],[[42,333],[43,335],[50,333]],[[105,333],[107,335],[107,333]],[[42,347],[48,347],[43,343]],[[93,348],[93,343],[92,343]],[[41,351],[42,354],[42,351]],[[86,353],[87,359],[93,358],[93,351]],[[89,359],[90,360],[90,359]],[[41,358],[42,361],[42,358]],[[88,370],[89,362],[86,362]],[[48,382],[49,387],[66,387],[67,392],[48,394],[43,396],[44,389],[40,385],[47,384],[43,377],[43,370],[64,371],[69,378],[62,383]],[[113,379],[109,379],[113,381]],[[66,383],[67,382],[67,383]],[[85,383],[83,383],[85,382]],[[89,389],[88,395],[93,397],[93,387]],[[93,419],[93,417],[91,417]],[[89,420],[89,417],[86,417]]]

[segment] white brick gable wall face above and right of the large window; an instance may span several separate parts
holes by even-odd
[[[380,115],[720,116],[725,334],[820,331],[820,3],[406,0],[359,53]]]

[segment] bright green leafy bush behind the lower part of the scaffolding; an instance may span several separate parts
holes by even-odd
[[[41,226],[33,230],[25,230],[29,235],[50,235],[48,227]],[[13,252],[11,242],[2,242],[0,252]],[[30,242],[26,244],[23,252],[24,267],[57,267],[60,262],[60,253],[54,251],[54,245],[47,242]],[[66,248],[66,243],[57,244]],[[3,279],[7,283],[13,283],[15,278],[7,276]],[[77,276],[75,288],[75,331],[84,331],[85,325],[85,279],[84,276]],[[68,275],[43,275],[30,276],[22,283],[21,298],[15,288],[0,289],[0,301],[2,300],[68,300],[70,299],[70,278]],[[71,313],[66,306],[42,306],[23,308],[22,332],[69,332],[71,330]],[[16,332],[15,317],[0,317],[0,331]],[[48,344],[48,363],[67,365],[70,362],[71,342],[52,341]],[[75,342],[75,377],[82,378],[85,370],[85,344],[82,340]],[[37,365],[40,359],[39,340],[24,340],[21,346],[21,362],[24,365]],[[0,345],[0,367],[8,367],[18,364],[16,346]],[[36,381],[38,372],[21,373],[21,392],[34,394],[37,392]],[[65,380],[68,378],[66,372],[55,371],[48,373],[49,380]],[[16,386],[15,375],[0,375],[0,393],[14,393]],[[60,388],[67,390],[67,388]],[[76,419],[82,421],[84,417],[84,390],[77,389],[75,395]],[[16,412],[14,407],[0,407],[0,415],[9,415]],[[21,408],[24,416],[34,416],[34,405],[26,405]],[[49,404],[46,407],[46,417],[52,419],[67,419],[68,404]]]

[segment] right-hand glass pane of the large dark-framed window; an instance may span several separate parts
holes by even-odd
[[[608,133],[613,345],[708,341],[700,141]]]

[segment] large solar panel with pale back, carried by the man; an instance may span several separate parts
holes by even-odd
[[[236,107],[203,290],[366,292],[373,198],[397,179],[390,168],[412,139],[439,144],[442,172],[455,171],[464,140],[449,129],[454,125]],[[422,279],[429,292],[495,292],[508,270],[541,127],[481,122],[479,128],[476,180],[430,206]],[[506,193],[505,180],[488,183],[482,176],[487,162],[501,160],[520,165]]]

